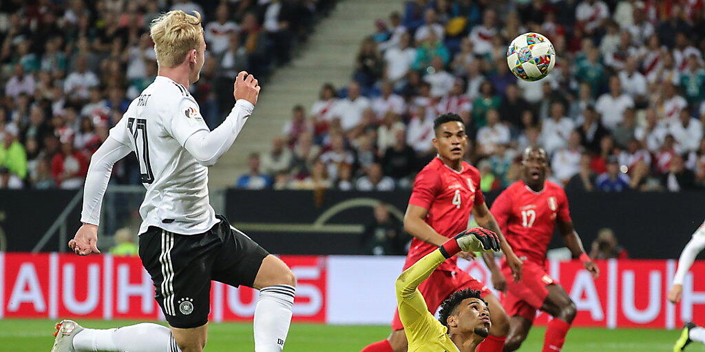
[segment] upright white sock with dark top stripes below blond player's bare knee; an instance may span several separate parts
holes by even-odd
[[[253,323],[255,352],[278,352],[284,348],[295,291],[289,285],[274,285],[259,290]]]

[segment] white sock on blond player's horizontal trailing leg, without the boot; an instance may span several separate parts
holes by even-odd
[[[83,329],[73,337],[77,352],[180,352],[168,327],[143,322],[116,329]]]

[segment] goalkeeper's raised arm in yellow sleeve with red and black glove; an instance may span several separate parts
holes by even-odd
[[[434,315],[429,313],[426,301],[418,290],[419,285],[436,270],[436,267],[461,251],[499,250],[499,239],[496,234],[480,227],[465,230],[452,239],[445,239],[439,249],[421,258],[402,272],[396,280],[399,318],[406,328],[409,341],[434,333],[434,327],[445,330]]]

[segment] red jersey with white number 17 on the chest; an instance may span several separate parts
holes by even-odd
[[[514,182],[495,199],[490,211],[514,253],[539,265],[546,261],[556,220],[570,221],[568,197],[550,181],[539,192],[523,181]]]

